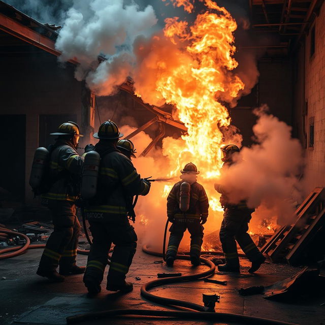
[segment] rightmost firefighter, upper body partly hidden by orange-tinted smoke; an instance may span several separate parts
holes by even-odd
[[[224,162],[223,168],[228,168],[235,164],[234,154],[239,152],[239,148],[236,145],[226,145],[221,148],[221,151],[223,155],[222,161]],[[247,233],[248,223],[254,209],[248,208],[245,200],[240,201],[238,204],[229,203],[226,186],[214,184],[214,188],[221,193],[220,203],[224,210],[220,229],[220,241],[226,263],[218,265],[218,270],[224,272],[239,272],[240,266],[236,244],[237,241],[251,262],[251,267],[248,272],[253,273],[257,271],[265,261],[265,257],[258,250]]]

